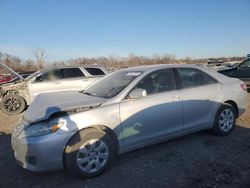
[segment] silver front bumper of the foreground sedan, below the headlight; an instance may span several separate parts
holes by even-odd
[[[17,164],[36,172],[62,169],[64,148],[72,135],[52,133],[21,137],[21,133],[28,126],[28,123],[21,121],[11,136],[11,145]]]

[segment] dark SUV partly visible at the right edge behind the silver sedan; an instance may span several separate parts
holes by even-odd
[[[226,76],[239,78],[247,85],[248,91],[250,90],[250,58],[230,69],[218,71]]]

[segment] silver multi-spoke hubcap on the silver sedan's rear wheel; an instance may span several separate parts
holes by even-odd
[[[223,131],[229,131],[234,124],[234,114],[230,109],[224,109],[219,118],[219,126]]]

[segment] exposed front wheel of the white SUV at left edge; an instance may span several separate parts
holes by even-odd
[[[26,108],[26,101],[16,94],[5,95],[1,101],[1,110],[9,115],[20,114]]]

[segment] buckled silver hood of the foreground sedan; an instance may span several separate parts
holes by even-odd
[[[50,118],[60,112],[78,112],[97,107],[105,99],[89,96],[76,91],[55,92],[38,95],[24,114],[24,119],[34,123]]]

